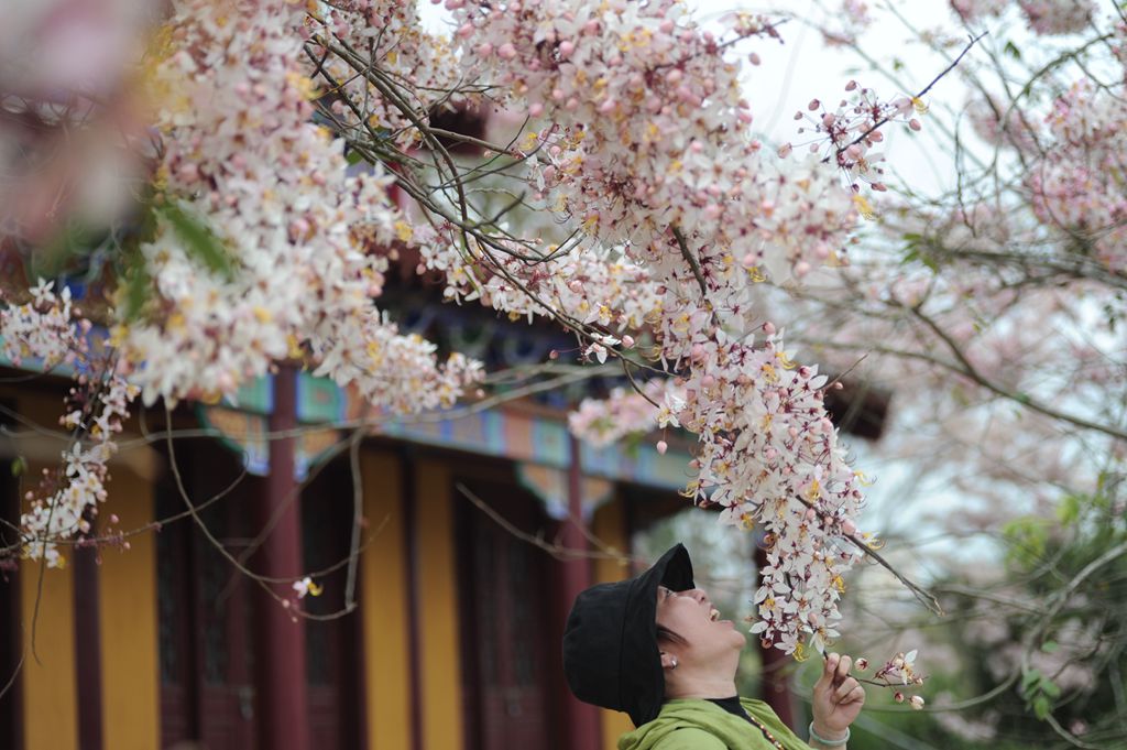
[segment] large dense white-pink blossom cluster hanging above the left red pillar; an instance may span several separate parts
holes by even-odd
[[[286,358],[394,411],[450,405],[476,363],[435,360],[375,308],[385,248],[409,233],[376,168],[346,174],[311,121],[304,5],[175,3],[152,73],[162,96],[167,200],[205,222],[230,273],[162,221],[142,247],[154,299],[115,334],[145,403],[232,394]]]

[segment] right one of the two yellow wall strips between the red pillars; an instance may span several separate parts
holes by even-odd
[[[421,647],[423,747],[462,747],[462,677],[458,642],[454,506],[447,468],[416,464],[416,545]]]

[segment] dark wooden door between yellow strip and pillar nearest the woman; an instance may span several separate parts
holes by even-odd
[[[538,501],[516,486],[465,484],[521,530],[550,528]],[[460,515],[468,744],[558,748],[550,558],[464,501]]]

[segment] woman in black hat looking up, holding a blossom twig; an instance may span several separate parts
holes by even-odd
[[[814,686],[808,744],[761,700],[739,698],[747,636],[693,583],[683,545],[645,573],[583,591],[564,632],[564,672],[586,703],[622,711],[619,750],[844,750],[864,688],[829,654]]]

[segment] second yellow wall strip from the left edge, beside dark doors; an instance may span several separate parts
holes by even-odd
[[[109,500],[99,517],[105,529],[128,531],[153,520],[152,484],[114,467]],[[113,750],[160,747],[160,667],[157,635],[157,539],[153,531],[128,537],[130,549],[106,547],[98,567],[101,627],[103,742]]]

